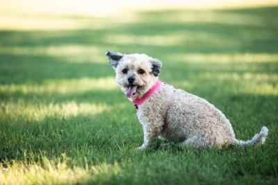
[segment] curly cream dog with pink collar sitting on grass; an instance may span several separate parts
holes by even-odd
[[[147,148],[157,137],[197,148],[223,146],[261,146],[268,128],[252,140],[236,139],[229,120],[211,103],[182,89],[158,80],[162,62],[145,54],[107,51],[108,62],[115,69],[115,81],[136,107]]]

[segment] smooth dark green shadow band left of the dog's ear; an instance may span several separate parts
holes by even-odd
[[[108,64],[71,63],[47,55],[1,55],[1,84],[40,83],[49,79],[101,78],[113,76]]]

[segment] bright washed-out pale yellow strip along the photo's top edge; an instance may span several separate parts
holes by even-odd
[[[97,26],[99,25],[87,24],[88,22],[86,22],[85,20],[83,20],[82,22],[78,22],[74,18],[87,17],[94,19],[95,17],[115,17],[114,21],[136,22],[136,12],[142,12],[146,10],[183,10],[183,12],[187,12],[188,10],[202,10],[199,12],[199,14],[202,15],[203,10],[220,10],[227,8],[258,8],[265,6],[277,6],[277,4],[277,0],[1,0],[0,28],[17,30],[98,28]],[[176,21],[181,21],[181,19],[183,21],[208,21],[209,19],[209,17],[207,19],[204,19],[202,17],[204,20],[198,19],[198,17],[193,19],[193,17],[188,17],[186,15],[180,15],[179,17],[170,17],[170,19],[171,18],[175,18],[174,20]],[[229,18],[232,18],[232,16]],[[234,17],[234,20],[236,18],[238,17]],[[211,19],[213,19],[213,17],[211,17],[210,20]]]

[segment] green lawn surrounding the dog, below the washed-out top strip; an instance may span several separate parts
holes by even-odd
[[[277,17],[277,7],[169,10],[1,30],[0,184],[278,184]],[[238,139],[266,125],[265,145],[135,150],[142,128],[108,49],[161,59],[161,80],[213,103]]]

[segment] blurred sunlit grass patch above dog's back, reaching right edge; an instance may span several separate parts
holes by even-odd
[[[188,77],[190,80],[177,81],[173,84],[183,89],[194,89],[199,83],[206,81],[209,82],[208,86],[221,86],[222,94],[278,95],[277,74],[206,72]]]

